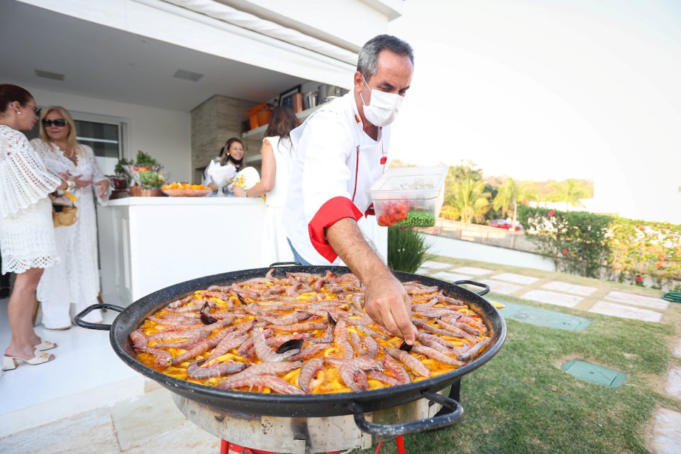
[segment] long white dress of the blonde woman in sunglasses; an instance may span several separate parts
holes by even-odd
[[[54,172],[62,172],[67,168],[71,175],[82,175],[81,179],[92,179],[93,182],[104,179],[92,148],[87,145],[80,145],[83,151],[74,164],[57,145],[52,144],[51,148],[40,139],[31,140],[31,144],[43,158],[45,166]],[[62,262],[46,270],[38,284],[38,299],[43,309],[43,325],[46,328],[71,326],[74,314],[87,306],[97,304],[99,264],[95,189],[94,184],[76,189],[74,193],[78,197],[75,202],[78,207],[76,223],[55,228],[57,250]],[[106,204],[106,199],[100,200],[100,203]],[[74,305],[73,308],[71,304]],[[101,321],[101,311],[92,311],[84,320],[94,323]]]

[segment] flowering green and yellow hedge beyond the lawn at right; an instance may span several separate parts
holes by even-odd
[[[520,207],[519,221],[555,269],[672,289],[681,281],[681,226],[581,211]]]

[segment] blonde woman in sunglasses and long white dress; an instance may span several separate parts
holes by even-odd
[[[97,265],[97,225],[94,193],[100,203],[109,198],[109,180],[104,177],[92,148],[77,143],[76,125],[69,112],[60,106],[43,109],[40,138],[31,145],[53,172],[67,172],[76,184],[74,202],[77,221],[72,226],[55,228],[57,251],[62,261],[45,272],[38,285],[38,299],[43,309],[43,325],[49,329],[71,327],[71,304],[74,314],[97,304],[99,266]],[[94,189],[94,190],[93,190]],[[101,311],[85,318],[101,323]]]

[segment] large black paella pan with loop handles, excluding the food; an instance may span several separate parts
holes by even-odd
[[[422,431],[426,428],[438,428],[449,426],[457,422],[463,416],[463,408],[453,399],[436,394],[443,388],[448,387],[453,382],[460,380],[461,377],[469,372],[484,365],[497,354],[506,338],[506,323],[489,301],[482,298],[483,294],[489,292],[489,287],[472,281],[458,281],[449,283],[440,279],[414,275],[406,272],[394,272],[395,277],[401,282],[418,280],[424,285],[437,285],[444,290],[445,294],[456,297],[466,302],[481,316],[482,323],[492,334],[485,351],[478,358],[469,364],[460,367],[438,377],[431,377],[419,382],[402,384],[399,386],[387,387],[382,389],[372,389],[362,392],[338,393],[338,394],[306,394],[306,395],[284,395],[284,394],[261,394],[258,392],[240,392],[228,389],[216,389],[201,384],[179,380],[170,377],[162,372],[143,365],[135,354],[133,344],[130,340],[130,333],[137,329],[143,321],[156,311],[162,309],[171,301],[175,301],[190,292],[206,289],[211,285],[227,285],[233,282],[242,282],[253,277],[262,277],[270,270],[267,268],[256,268],[253,270],[240,270],[227,272],[220,275],[212,275],[192,279],[180,284],[166,287],[157,292],[147,295],[135,301],[125,309],[111,304],[96,304],[78,314],[74,321],[83,328],[109,330],[109,338],[114,351],[126,364],[134,370],[140,372],[145,377],[155,380],[163,387],[170,389],[171,392],[182,395],[187,399],[212,406],[223,411],[236,411],[243,414],[257,414],[267,416],[287,416],[287,417],[323,417],[354,414],[355,421],[363,430],[370,433],[386,432],[384,426],[369,423],[364,419],[364,413],[379,409],[387,409],[394,406],[412,402],[416,399],[426,398],[431,402],[437,402],[453,410],[444,416],[436,416],[423,421],[414,421],[403,426],[399,433],[410,433]],[[275,276],[284,275],[285,272],[309,272],[323,274],[326,271],[342,275],[350,272],[347,267],[333,266],[285,266],[277,267]],[[459,287],[458,284],[473,284],[485,289],[476,294],[470,290]],[[106,307],[115,311],[120,311],[111,325],[88,323],[82,320],[89,311]],[[415,424],[416,423],[416,424]],[[411,424],[411,426],[410,426]],[[388,431],[390,432],[390,430]],[[399,435],[399,433],[394,433]]]

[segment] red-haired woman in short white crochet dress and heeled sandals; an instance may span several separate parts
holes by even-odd
[[[44,353],[57,345],[43,342],[33,330],[33,295],[45,268],[59,261],[48,194],[73,188],[50,174],[26,135],[40,109],[25,89],[0,84],[0,249],[3,274],[16,273],[7,316],[12,331],[2,359],[3,370],[18,362],[31,365],[55,359]]]

